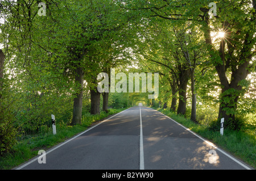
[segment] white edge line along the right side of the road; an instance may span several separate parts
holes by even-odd
[[[151,109],[152,109],[152,108],[151,108]],[[154,109],[152,109],[152,110],[154,110]],[[157,110],[155,110],[155,111],[157,111]],[[158,112],[160,112],[160,111],[158,111]],[[162,113],[162,112],[160,112],[160,113]],[[166,116],[164,113],[162,113],[162,115]],[[166,116],[166,117],[168,117],[168,116]],[[184,129],[187,129],[187,131],[191,132],[192,134],[194,134],[195,136],[197,136],[198,138],[200,138],[201,140],[203,140],[204,142],[206,142],[208,145],[213,146],[214,149],[220,151],[222,154],[226,155],[227,157],[229,157],[230,159],[232,159],[234,162],[238,163],[239,165],[241,165],[241,166],[244,167],[245,169],[251,170],[249,167],[247,167],[246,165],[244,165],[243,163],[241,163],[240,161],[238,161],[236,158],[232,157],[231,155],[229,155],[229,154],[226,153],[225,151],[223,151],[223,150],[221,150],[220,148],[218,148],[218,147],[217,147],[216,145],[214,145],[212,142],[209,142],[209,141],[205,140],[203,137],[197,135],[195,132],[191,131],[189,128],[186,128],[186,127],[184,127],[183,125],[181,125],[180,123],[177,123],[177,121],[171,119],[171,117],[168,117],[168,118],[169,118],[170,120],[174,121],[176,124],[178,124],[178,125],[180,125],[181,127],[183,127]]]

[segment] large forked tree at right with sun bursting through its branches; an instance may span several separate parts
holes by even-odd
[[[221,94],[219,118],[224,117],[226,125],[236,122],[238,99],[246,87],[246,77],[255,65],[255,0],[221,1],[217,3],[217,16],[210,19],[208,1],[158,1],[151,3],[127,3],[126,8],[141,11],[147,17],[160,18],[172,24],[192,22],[198,24],[204,33],[212,66],[217,71]],[[224,31],[225,39],[213,42],[214,32]],[[230,73],[230,74],[229,74]],[[231,75],[231,77],[229,77]],[[232,128],[233,129],[233,128]]]

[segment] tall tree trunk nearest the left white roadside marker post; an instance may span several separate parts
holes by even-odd
[[[76,69],[75,81],[80,85],[80,88],[74,98],[72,125],[81,124],[82,122],[82,88],[84,85],[84,71],[82,68]]]

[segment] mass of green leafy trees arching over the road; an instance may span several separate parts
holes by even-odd
[[[1,1],[1,153],[49,127],[51,114],[76,125],[85,112],[138,103],[240,130],[256,112],[255,0],[214,4],[213,15],[209,1]],[[159,73],[158,98],[129,86],[99,92],[97,75],[111,82],[113,68]]]

